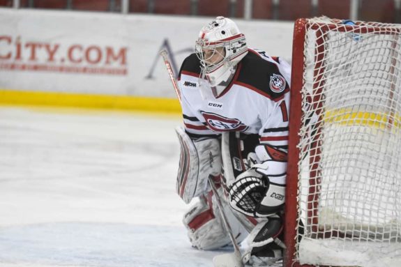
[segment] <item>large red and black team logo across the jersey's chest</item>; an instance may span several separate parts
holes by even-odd
[[[209,113],[209,112],[201,112],[202,116],[211,128],[211,130],[216,132],[227,132],[227,131],[243,131],[248,128],[248,126],[243,125],[239,119],[229,119],[218,114]]]

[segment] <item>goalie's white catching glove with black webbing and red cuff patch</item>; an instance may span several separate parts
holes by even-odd
[[[255,152],[262,163],[236,177],[229,204],[240,213],[264,218],[284,206],[287,154],[266,145],[257,146]]]

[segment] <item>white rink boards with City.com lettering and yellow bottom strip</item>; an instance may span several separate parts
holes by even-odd
[[[0,104],[179,112],[174,71],[211,17],[0,8]],[[292,22],[236,20],[248,46],[291,61]]]

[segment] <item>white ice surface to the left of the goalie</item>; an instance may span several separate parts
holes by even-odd
[[[180,124],[0,107],[0,266],[212,266],[181,223]]]

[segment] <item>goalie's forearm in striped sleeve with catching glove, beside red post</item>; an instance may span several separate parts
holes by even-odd
[[[253,217],[268,217],[282,211],[287,178],[289,94],[264,114],[255,153],[258,163],[240,174],[230,190],[234,209]],[[271,103],[269,103],[271,104]]]

